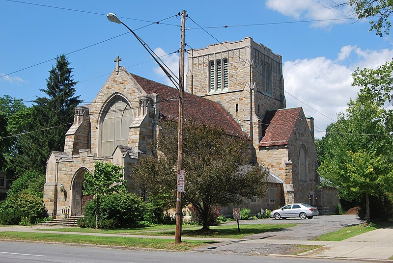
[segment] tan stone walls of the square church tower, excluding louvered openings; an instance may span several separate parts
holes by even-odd
[[[268,109],[285,107],[283,100],[282,59],[280,55],[262,44],[256,44],[251,37],[242,41],[209,45],[207,48],[192,50],[188,57],[187,91],[206,99],[219,102],[250,133],[250,77],[253,83],[253,141],[258,142],[261,123]],[[209,61],[228,58],[228,88],[217,91],[209,89]],[[253,69],[250,61],[253,61]],[[262,91],[262,65],[268,64],[273,92]],[[251,75],[251,76],[250,76]],[[266,82],[265,82],[266,83]],[[259,120],[259,122],[258,122]]]

